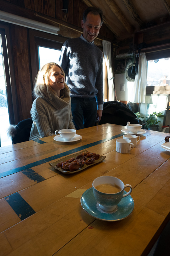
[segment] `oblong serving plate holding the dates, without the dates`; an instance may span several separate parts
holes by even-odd
[[[84,169],[86,169],[86,168],[88,168],[88,167],[90,167],[90,166],[92,166],[92,165],[95,165],[96,163],[100,163],[100,162],[102,162],[102,161],[106,158],[106,156],[100,155],[99,159],[95,160],[94,163],[91,163],[91,165],[85,165],[85,164],[84,164],[83,167],[81,167],[80,169],[78,169],[78,170],[76,170],[76,171],[74,171],[74,172],[67,171],[67,170],[63,170],[61,167],[56,167],[56,164],[57,164],[57,163],[60,163],[61,161],[66,161],[67,159],[70,159],[70,158],[72,158],[72,157],[76,158],[78,155],[80,155],[80,154],[82,154],[82,153],[85,153],[85,152],[88,152],[88,150],[85,149],[85,150],[83,150],[82,152],[79,152],[79,153],[76,153],[76,154],[72,154],[72,155],[68,155],[68,156],[66,156],[66,157],[64,157],[64,158],[62,158],[62,159],[60,159],[60,160],[58,160],[58,161],[56,161],[56,162],[49,163],[49,165],[51,165],[54,169],[56,169],[56,170],[58,170],[58,171],[60,171],[60,172],[62,172],[62,173],[64,173],[64,174],[73,174],[73,173],[78,173],[78,172],[80,172],[80,171],[82,171],[82,170],[84,170]],[[97,153],[96,153],[96,154],[97,154]],[[88,158],[88,159],[90,159],[90,158]]]

